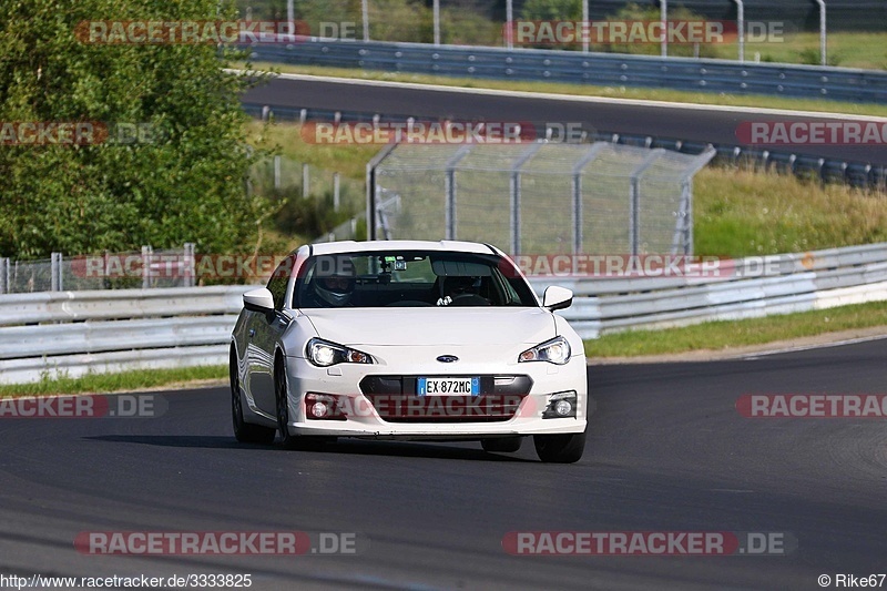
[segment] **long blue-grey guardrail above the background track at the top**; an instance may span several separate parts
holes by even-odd
[[[772,94],[850,102],[887,101],[887,72],[730,60],[578,51],[317,41],[249,47],[254,61],[363,68],[459,78]]]

